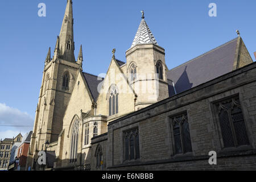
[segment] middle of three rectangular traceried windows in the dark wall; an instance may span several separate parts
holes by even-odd
[[[172,117],[175,154],[192,152],[187,113]]]

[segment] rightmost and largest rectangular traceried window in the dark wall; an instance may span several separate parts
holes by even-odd
[[[217,108],[224,147],[250,144],[239,98],[221,101]]]

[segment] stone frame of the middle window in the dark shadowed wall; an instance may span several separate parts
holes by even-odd
[[[189,127],[189,137],[190,137],[190,141],[191,141],[191,151],[184,151],[184,146],[183,146],[183,135],[181,133],[182,127],[180,128],[180,138],[181,138],[181,144],[182,144],[182,153],[177,153],[176,152],[176,146],[175,146],[175,138],[174,138],[174,118],[178,117],[180,115],[186,114],[187,115],[187,123],[188,123],[188,127]],[[193,155],[193,144],[192,144],[192,137],[191,137],[191,123],[189,122],[189,114],[188,111],[181,111],[179,113],[175,113],[169,116],[169,126],[170,126],[170,131],[171,131],[171,144],[172,144],[172,156],[176,157],[176,156],[184,156],[184,155]]]

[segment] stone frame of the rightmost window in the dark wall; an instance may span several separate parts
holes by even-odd
[[[217,109],[217,106],[216,104],[218,104],[219,102],[223,102],[223,101],[226,101],[226,100],[230,100],[232,98],[236,98],[238,97],[239,101],[240,101],[240,105],[241,105],[241,110],[242,110],[242,114],[243,114],[243,122],[245,124],[245,129],[246,129],[246,134],[247,134],[247,137],[249,139],[249,143],[250,144],[247,144],[247,145],[242,145],[242,146],[237,146],[237,147],[225,147],[224,146],[224,141],[222,139],[222,131],[221,131],[221,126],[220,126],[220,119],[218,118],[218,109]],[[248,116],[246,115],[246,106],[244,106],[242,104],[242,96],[239,92],[237,92],[236,94],[232,94],[230,96],[225,96],[225,95],[222,95],[222,97],[216,99],[216,100],[212,100],[210,105],[212,107],[212,110],[213,110],[213,115],[214,115],[214,124],[216,125],[217,127],[217,134],[218,134],[218,142],[220,144],[220,147],[221,147],[221,151],[220,152],[225,152],[225,151],[237,151],[237,150],[243,150],[243,149],[247,149],[247,150],[250,150],[251,148],[253,148],[251,146],[251,143],[252,143],[252,140],[250,138],[250,129],[249,129],[249,123],[247,122],[247,119],[248,119]]]

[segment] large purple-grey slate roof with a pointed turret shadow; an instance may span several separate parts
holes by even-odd
[[[233,39],[168,71],[167,77],[174,82],[176,92],[184,92],[233,71],[237,44],[238,38]]]

